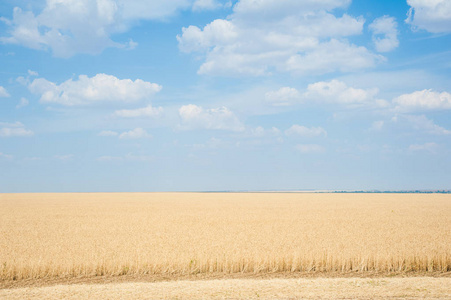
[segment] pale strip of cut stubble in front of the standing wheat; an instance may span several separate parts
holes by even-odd
[[[451,278],[223,279],[0,290],[5,299],[451,299]]]

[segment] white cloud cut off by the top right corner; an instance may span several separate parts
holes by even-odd
[[[432,33],[451,32],[449,0],[407,0],[411,6],[406,23]]]

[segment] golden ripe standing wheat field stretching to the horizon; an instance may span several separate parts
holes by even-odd
[[[0,194],[0,283],[451,271],[451,195]]]

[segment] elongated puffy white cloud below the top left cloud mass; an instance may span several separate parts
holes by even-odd
[[[29,90],[41,96],[41,103],[58,103],[66,106],[89,105],[100,102],[137,102],[150,98],[161,86],[141,79],[118,79],[112,75],[97,74],[89,78],[80,75],[61,84],[44,78],[33,80]]]

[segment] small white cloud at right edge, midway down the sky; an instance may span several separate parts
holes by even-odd
[[[393,103],[396,105],[395,110],[398,111],[451,109],[451,94],[422,90],[401,95],[393,99]]]

